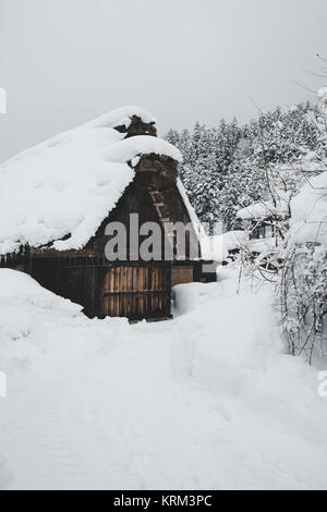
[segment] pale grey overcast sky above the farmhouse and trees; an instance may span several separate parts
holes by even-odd
[[[170,126],[313,97],[326,0],[0,0],[0,161],[123,105]]]

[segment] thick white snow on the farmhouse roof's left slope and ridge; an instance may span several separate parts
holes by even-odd
[[[128,161],[153,153],[181,160],[178,149],[156,137],[124,139],[114,127],[129,127],[133,115],[155,122],[140,107],[124,107],[0,167],[0,254],[52,242],[59,251],[82,248],[133,181]]]

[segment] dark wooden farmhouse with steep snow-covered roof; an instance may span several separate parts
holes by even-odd
[[[170,317],[173,285],[216,279],[203,273],[201,249],[198,257],[191,251],[199,242],[178,176],[180,160],[173,146],[157,138],[152,115],[136,107],[9,160],[0,168],[0,267],[29,273],[83,305],[89,317]],[[140,225],[160,227],[155,259],[135,254],[136,214]],[[108,259],[113,233],[107,227],[118,222],[126,230],[125,254]],[[171,229],[177,222],[191,225],[181,249]],[[137,249],[144,240],[141,234]]]

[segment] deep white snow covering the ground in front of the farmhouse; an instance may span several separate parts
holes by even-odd
[[[177,318],[89,320],[0,270],[0,488],[327,488],[317,370],[268,290],[175,289]]]

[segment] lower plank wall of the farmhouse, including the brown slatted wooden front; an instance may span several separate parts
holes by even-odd
[[[169,263],[108,265],[101,257],[34,258],[32,275],[48,290],[83,305],[90,317],[170,315]]]

